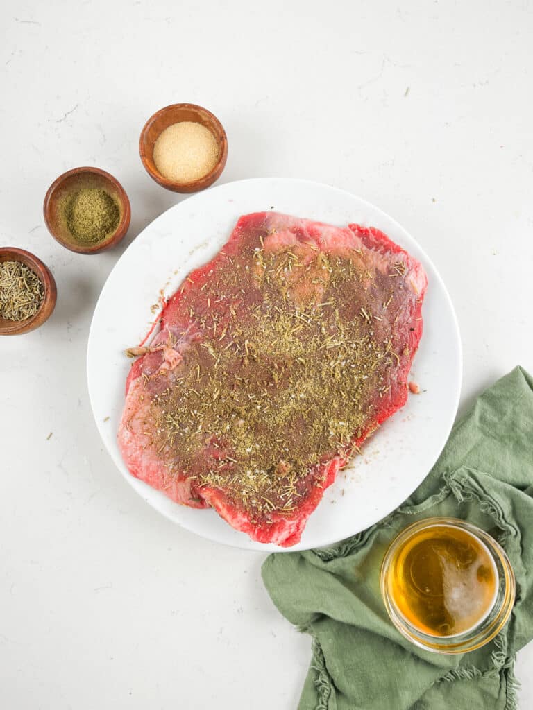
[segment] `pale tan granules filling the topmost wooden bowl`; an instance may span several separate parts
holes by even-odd
[[[154,144],[154,163],[168,180],[191,182],[207,175],[217,164],[215,136],[202,124],[180,121],[168,126]]]

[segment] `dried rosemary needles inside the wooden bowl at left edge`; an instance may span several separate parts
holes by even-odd
[[[26,320],[36,315],[44,298],[38,275],[21,261],[0,263],[0,317]]]

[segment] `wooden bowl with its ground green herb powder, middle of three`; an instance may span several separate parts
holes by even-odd
[[[80,254],[116,246],[131,218],[124,187],[99,168],[74,168],[60,175],[48,188],[43,212],[53,238]]]

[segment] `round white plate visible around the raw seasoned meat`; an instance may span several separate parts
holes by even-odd
[[[214,510],[173,503],[131,476],[117,446],[124,383],[131,366],[124,349],[146,336],[161,288],[171,295],[183,278],[222,247],[241,214],[275,209],[296,217],[382,229],[424,264],[429,287],[424,335],[412,374],[422,393],[409,397],[365,444],[363,454],[338,475],[291,550],[330,545],[364,530],[399,506],[428,474],[450,433],[461,389],[461,339],[446,288],[419,244],[377,207],[328,185],[305,180],[230,182],[188,198],[161,214],[124,252],[97,302],[87,349],[87,377],[97,427],[126,481],[175,523],[210,540],[247,550],[261,545],[230,528]],[[106,417],[109,419],[106,420]],[[105,420],[105,421],[104,421]]]

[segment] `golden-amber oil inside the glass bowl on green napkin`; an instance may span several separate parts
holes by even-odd
[[[498,575],[485,544],[452,525],[411,535],[396,551],[387,588],[399,613],[422,633],[453,636],[477,626],[495,604]]]

